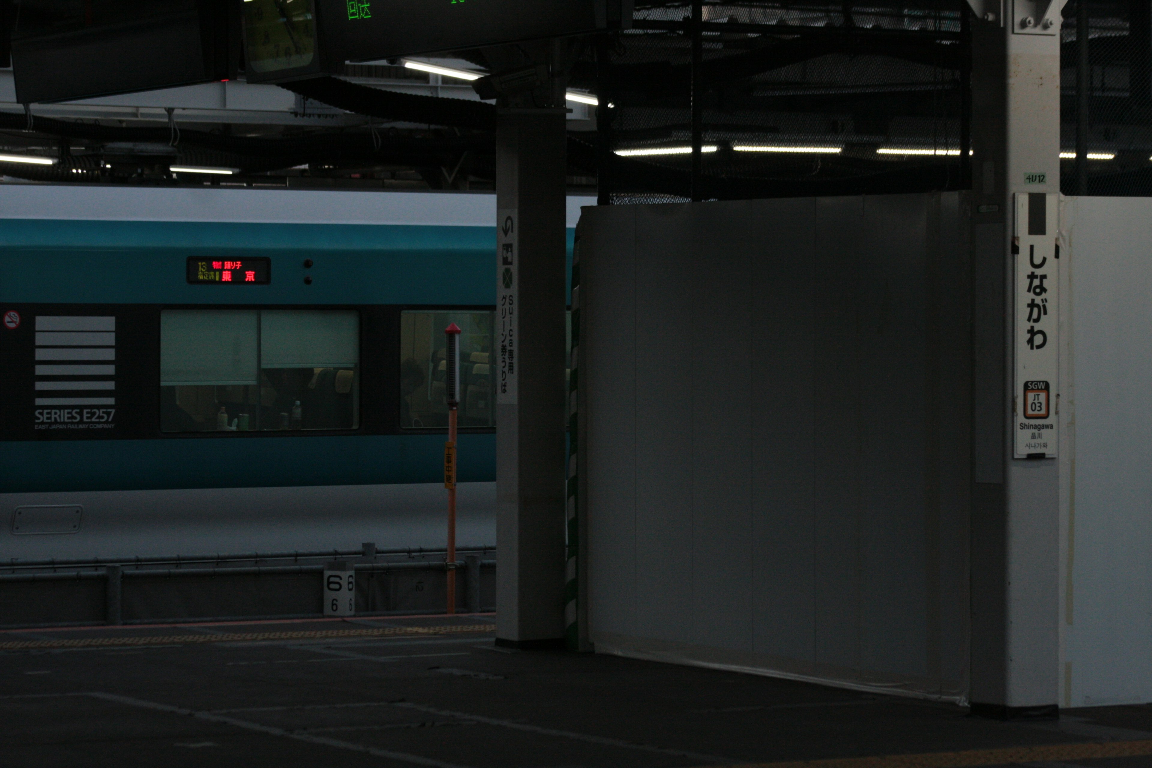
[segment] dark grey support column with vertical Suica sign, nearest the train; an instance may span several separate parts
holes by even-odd
[[[555,89],[553,89],[555,90]],[[497,127],[497,644],[564,633],[566,112]],[[555,101],[553,101],[555,104]]]

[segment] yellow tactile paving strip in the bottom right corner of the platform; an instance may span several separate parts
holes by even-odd
[[[1152,755],[1152,739],[1089,744],[1044,744],[999,750],[964,750],[926,754],[893,754],[871,758],[831,758],[788,762],[748,762],[712,768],[971,768],[1041,761],[1099,760]]]

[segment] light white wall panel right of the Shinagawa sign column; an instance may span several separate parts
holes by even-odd
[[[1152,200],[1071,198],[1061,229],[1075,377],[1061,706],[1152,701]]]

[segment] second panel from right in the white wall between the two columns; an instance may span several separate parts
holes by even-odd
[[[866,198],[856,257],[864,447],[859,664],[915,677],[927,675],[929,592],[939,592],[926,572],[931,548],[925,489],[939,470],[939,462],[930,469],[925,461],[925,326],[926,312],[935,312],[938,292],[937,286],[925,284],[930,207],[922,196]],[[934,550],[931,557],[935,560]]]

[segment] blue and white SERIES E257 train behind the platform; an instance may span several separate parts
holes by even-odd
[[[569,200],[569,245],[578,206]],[[0,187],[0,557],[495,541],[491,195]]]

